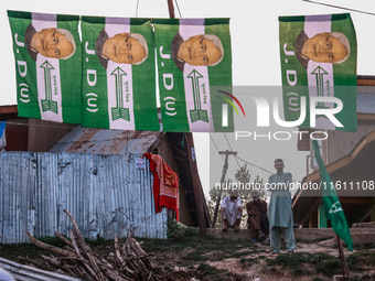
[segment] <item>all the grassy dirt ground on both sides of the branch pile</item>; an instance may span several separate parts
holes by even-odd
[[[332,280],[341,273],[339,251],[333,240],[307,244],[297,241],[293,253],[272,255],[269,246],[242,240],[200,238],[182,235],[167,240],[137,239],[142,248],[163,264],[180,273],[175,280]],[[56,238],[46,242],[63,247]],[[89,241],[90,247],[108,257],[114,241]],[[285,248],[285,246],[283,246]],[[20,257],[42,261],[43,250],[33,245],[0,245],[0,257],[22,263]],[[345,250],[351,280],[375,280],[375,245]]]

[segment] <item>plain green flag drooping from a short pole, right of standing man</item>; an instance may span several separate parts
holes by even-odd
[[[345,244],[347,245],[347,249],[352,251],[353,240],[349,230],[344,210],[338,197],[336,190],[330,174],[326,172],[322,156],[320,155],[319,144],[317,140],[312,141],[312,145],[319,165],[319,174],[323,186],[323,205],[325,209],[325,217],[331,220],[333,230],[345,241]]]

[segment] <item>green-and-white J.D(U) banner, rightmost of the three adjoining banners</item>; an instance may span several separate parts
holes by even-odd
[[[163,131],[233,131],[228,19],[158,19]]]

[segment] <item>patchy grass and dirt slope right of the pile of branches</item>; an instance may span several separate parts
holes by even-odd
[[[184,237],[189,240],[190,238]],[[176,245],[183,245],[179,249]],[[149,248],[148,241],[144,247]],[[162,246],[159,246],[162,248]],[[181,270],[195,270],[202,280],[256,280],[287,281],[332,280],[341,273],[339,251],[334,240],[313,244],[299,241],[293,253],[270,252],[269,245],[226,239],[194,239],[170,241],[165,251],[149,248],[158,260],[170,262]],[[285,246],[283,246],[285,248]],[[231,250],[232,249],[232,250]],[[356,247],[353,252],[344,250],[352,280],[375,280],[375,247]]]

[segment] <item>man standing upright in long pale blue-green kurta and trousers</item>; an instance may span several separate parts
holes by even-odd
[[[293,252],[296,247],[292,205],[289,193],[291,173],[285,173],[283,166],[282,159],[275,160],[275,169],[277,173],[269,177],[267,186],[267,188],[271,192],[268,219],[270,229],[270,246],[274,253],[280,252],[280,233],[282,229],[286,230],[285,241],[287,244],[287,251]]]

